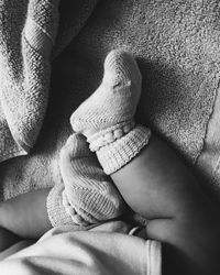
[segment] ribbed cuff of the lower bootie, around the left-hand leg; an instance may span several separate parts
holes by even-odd
[[[63,206],[63,185],[55,185],[50,191],[46,200],[48,219],[54,228],[67,224],[73,226],[72,218],[66,213]]]

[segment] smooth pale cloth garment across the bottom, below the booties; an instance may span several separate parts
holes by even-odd
[[[73,232],[59,228],[0,262],[2,275],[161,275],[161,244],[112,231]],[[122,228],[121,228],[122,229]],[[58,250],[57,250],[58,248]],[[133,253],[135,251],[135,253]]]

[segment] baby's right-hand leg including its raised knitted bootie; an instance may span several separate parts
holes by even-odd
[[[72,116],[73,129],[87,138],[129,206],[150,219],[148,237],[207,267],[217,263],[215,208],[179,156],[134,123],[140,94],[135,61],[122,51],[111,52],[100,87]]]

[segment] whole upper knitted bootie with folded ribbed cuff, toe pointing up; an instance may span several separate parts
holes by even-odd
[[[99,88],[73,113],[75,132],[82,133],[97,153],[106,174],[131,161],[148,142],[150,129],[136,125],[134,114],[141,96],[141,73],[130,53],[109,53]]]

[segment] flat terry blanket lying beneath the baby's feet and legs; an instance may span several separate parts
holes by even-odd
[[[105,56],[118,47],[133,53],[143,76],[138,122],[150,124],[197,166],[219,90],[219,12],[217,0],[99,1],[53,63],[47,114],[34,151],[0,166],[2,198],[59,180],[57,160],[70,134],[69,117],[97,89]],[[65,14],[70,14],[67,4]]]

